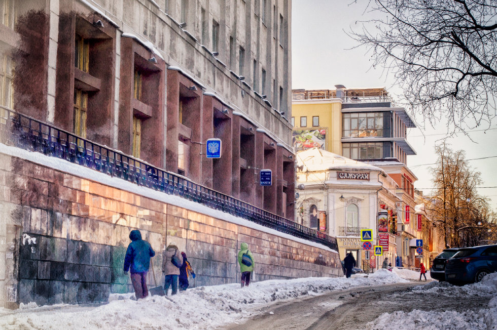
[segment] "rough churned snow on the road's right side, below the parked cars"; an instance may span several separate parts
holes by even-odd
[[[414,309],[406,313],[397,311],[383,313],[373,322],[368,323],[368,329],[497,329],[497,273],[485,276],[481,282],[455,286],[446,282],[430,282],[413,289],[413,292],[437,293],[447,296],[448,299],[474,299],[474,297],[494,296],[488,309],[468,310],[464,313],[457,311],[422,311]],[[471,298],[470,298],[471,297]]]

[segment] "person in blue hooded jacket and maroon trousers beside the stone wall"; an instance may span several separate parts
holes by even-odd
[[[129,239],[131,243],[124,257],[124,274],[127,275],[129,269],[136,299],[145,298],[149,295],[147,272],[150,267],[150,258],[155,256],[155,252],[149,242],[141,239],[139,230],[132,230],[129,233]]]

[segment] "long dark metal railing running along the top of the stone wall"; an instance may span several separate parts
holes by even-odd
[[[1,108],[0,113],[2,114],[0,116],[0,142],[4,144],[65,159],[140,186],[181,196],[209,208],[250,220],[295,237],[321,243],[338,251],[335,237],[195,184],[173,173],[82,139],[39,120],[5,108]]]

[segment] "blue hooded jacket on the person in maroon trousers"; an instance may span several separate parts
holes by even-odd
[[[130,269],[131,273],[143,273],[149,271],[150,258],[155,256],[152,246],[146,240],[141,239],[139,230],[132,230],[129,233],[131,243],[126,250],[124,257],[124,271]]]

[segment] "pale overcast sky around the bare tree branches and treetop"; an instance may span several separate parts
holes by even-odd
[[[356,42],[345,31],[358,29],[357,21],[366,20],[366,0],[350,4],[352,0],[292,0],[292,89],[335,89],[386,87],[393,94],[401,92],[394,85],[393,76],[382,69],[371,68],[371,54],[364,48],[351,49]],[[349,5],[350,4],[350,5]],[[368,14],[366,14],[368,15]],[[395,98],[395,97],[394,97]],[[428,171],[437,157],[434,146],[446,137],[446,127],[436,129],[416,117],[418,128],[408,129],[408,142],[417,152],[408,156],[407,165],[417,176],[418,189],[433,187]],[[480,127],[469,136],[458,134],[447,138],[453,149],[466,151],[466,159],[497,156],[497,120],[490,130]],[[473,140],[474,142],[472,142]],[[482,187],[497,187],[497,157],[469,160],[470,166],[481,172]],[[430,189],[422,189],[429,194]],[[497,211],[497,188],[480,188],[488,196],[492,209]]]

